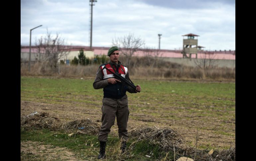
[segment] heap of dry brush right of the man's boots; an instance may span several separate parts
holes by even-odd
[[[131,144],[133,146],[136,142],[141,140],[147,140],[151,144],[158,145],[162,150],[166,152],[173,152],[175,158],[180,157],[192,157],[195,160],[200,161],[233,161],[235,160],[235,148],[227,150],[216,150],[212,154],[209,154],[209,150],[201,150],[190,146],[181,135],[170,129],[169,127],[144,127],[140,129],[134,129],[130,132],[131,136],[136,137],[137,140]]]

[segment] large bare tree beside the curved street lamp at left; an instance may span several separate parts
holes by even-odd
[[[36,40],[37,50],[39,53],[39,60],[47,62],[50,67],[58,72],[58,62],[60,59],[65,59],[68,55],[68,46],[65,45],[65,40],[59,34],[53,37],[47,30],[47,35]]]

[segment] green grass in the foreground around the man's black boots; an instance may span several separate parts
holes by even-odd
[[[26,130],[21,129],[21,142],[26,141],[37,141],[41,142],[43,145],[51,145],[51,148],[55,147],[66,147],[69,151],[75,154],[76,159],[92,159],[98,155],[99,151],[99,141],[97,136],[95,135],[72,135],[68,137],[67,134],[59,134],[54,131],[50,131],[48,129],[41,130]],[[127,142],[127,147],[131,145],[134,139],[130,139]],[[166,153],[162,152],[159,149],[159,146],[150,144],[148,141],[140,141],[137,142],[132,150],[128,149],[129,155],[121,155],[120,152],[117,151],[120,147],[120,142],[118,137],[109,135],[108,142],[106,144],[106,154],[110,160],[116,159],[125,159],[125,160],[156,160],[165,157]],[[151,155],[151,158],[145,157],[145,155]],[[24,160],[31,159],[36,160],[40,158],[44,160],[44,158],[39,157],[39,155],[32,155],[32,153],[24,153],[21,152],[21,156]],[[171,156],[171,153],[168,155]]]

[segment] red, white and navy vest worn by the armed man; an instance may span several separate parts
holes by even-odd
[[[107,69],[109,69],[113,73],[115,73],[115,71],[112,69],[112,67],[109,63],[102,64],[100,66],[100,70],[103,75],[103,80],[109,79],[109,78],[114,78],[114,75],[110,71],[103,69],[104,66],[106,66]],[[112,66],[115,68],[116,72],[118,72],[119,74],[121,74],[122,77],[125,78],[125,76],[128,72],[127,67],[123,66],[122,64],[117,64],[117,67],[114,65],[112,65]],[[127,86],[120,82],[117,82],[116,84],[108,84],[105,88],[103,88],[103,94],[104,94],[103,97],[120,99],[126,94],[126,91],[127,91]]]

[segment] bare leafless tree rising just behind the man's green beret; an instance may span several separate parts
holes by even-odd
[[[115,38],[115,40],[112,40],[112,44],[119,47],[120,53],[125,55],[126,65],[129,66],[132,56],[145,42],[130,33],[127,36]]]

